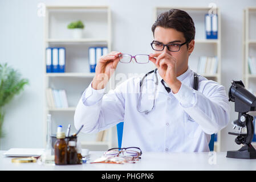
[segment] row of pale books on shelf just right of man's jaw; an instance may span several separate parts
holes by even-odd
[[[218,59],[217,56],[207,57],[200,56],[197,64],[198,74],[216,74],[218,69]]]

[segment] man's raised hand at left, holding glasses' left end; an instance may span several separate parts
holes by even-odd
[[[112,51],[107,55],[100,57],[95,68],[95,77],[92,80],[93,89],[99,90],[105,88],[108,80],[117,67],[120,54],[121,52]]]

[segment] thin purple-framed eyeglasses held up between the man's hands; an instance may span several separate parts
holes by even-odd
[[[132,58],[134,58],[136,63],[139,63],[139,64],[149,63],[149,55],[132,56],[125,53],[119,55],[120,63],[130,63],[132,61]]]

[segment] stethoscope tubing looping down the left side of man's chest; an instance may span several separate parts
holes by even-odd
[[[156,91],[157,91],[157,85],[159,84],[159,80],[158,80],[158,78],[157,78],[157,73],[156,73],[156,71],[157,71],[157,68],[155,69],[155,70],[152,70],[152,71],[150,71],[150,72],[148,72],[146,75],[144,75],[144,77],[143,78],[141,78],[141,80],[140,80],[140,93],[139,93],[139,99],[138,99],[138,103],[137,103],[137,111],[139,111],[140,113],[145,113],[145,114],[148,114],[150,111],[152,111],[153,109],[154,109],[154,107],[155,107],[155,101],[156,101]],[[145,79],[145,77],[147,77],[149,74],[151,74],[151,73],[154,73],[155,74],[155,92],[154,92],[154,100],[153,100],[153,106],[152,106],[152,108],[150,109],[150,110],[141,110],[140,109],[140,105],[141,105],[141,86],[143,85],[143,81],[144,81],[144,79]]]

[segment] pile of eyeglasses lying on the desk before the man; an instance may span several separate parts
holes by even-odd
[[[128,148],[111,148],[101,158],[96,159],[92,163],[111,163],[111,164],[124,164],[136,163],[141,159],[142,151],[139,147]]]

